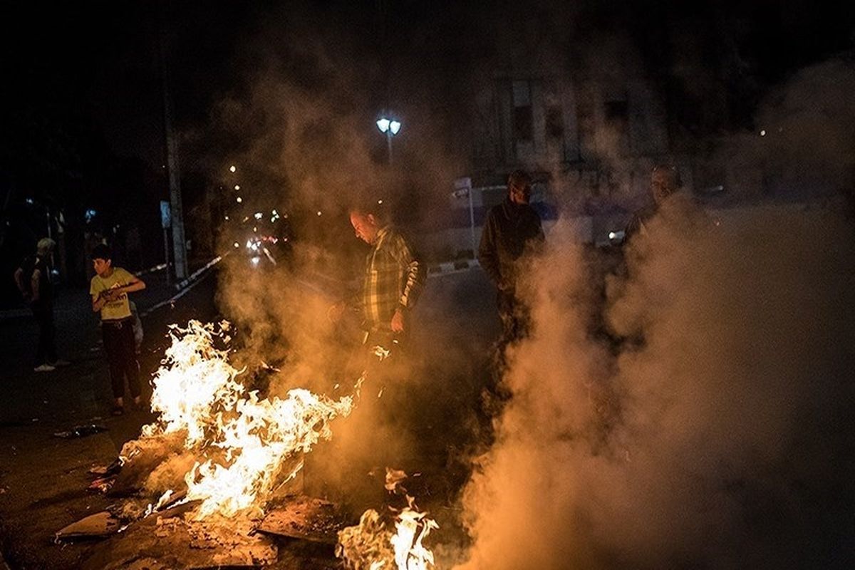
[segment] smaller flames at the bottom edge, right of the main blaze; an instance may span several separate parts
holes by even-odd
[[[403,491],[403,471],[386,467],[386,490]],[[419,512],[413,497],[405,495],[407,506],[395,515],[395,532],[373,508],[365,511],[357,526],[339,532],[336,555],[351,570],[429,570],[433,552],[422,544],[432,530],[439,528],[427,513]]]

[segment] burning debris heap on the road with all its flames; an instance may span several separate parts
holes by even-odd
[[[62,529],[57,540],[133,532],[143,540],[189,544],[203,552],[203,564],[268,564],[277,555],[273,535],[332,547],[338,533],[337,552],[351,568],[433,567],[422,540],[438,526],[406,495],[403,472],[386,473],[387,491],[403,493],[407,502],[392,511],[396,532],[388,530],[392,520],[374,510],[342,531],[353,520],[333,503],[276,492],[300,473],[304,454],[332,438],[331,421],[351,413],[364,373],[353,395],[338,400],[304,389],[261,398],[241,382],[245,370],[228,360],[229,330],[225,321],[172,326],[172,345],[152,380],[157,420],[111,465],[91,470],[98,478],[91,491],[127,500]],[[388,351],[376,347],[374,356],[382,361]],[[131,543],[139,550],[138,541],[125,540],[109,549],[109,560],[102,554],[91,567],[121,567],[135,555]]]

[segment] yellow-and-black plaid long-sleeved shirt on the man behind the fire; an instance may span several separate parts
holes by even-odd
[[[392,226],[380,229],[365,259],[361,304],[366,330],[390,330],[395,310],[416,304],[426,277],[404,236]]]

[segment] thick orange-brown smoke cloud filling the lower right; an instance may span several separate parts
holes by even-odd
[[[629,245],[602,296],[567,226],[551,232],[513,397],[464,492],[463,567],[852,555],[852,225],[804,206],[716,225],[685,206]]]

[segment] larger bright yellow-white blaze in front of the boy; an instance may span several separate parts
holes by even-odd
[[[353,398],[337,401],[294,389],[286,398],[260,400],[238,381],[228,362],[229,325],[192,320],[173,326],[172,346],[153,379],[151,408],[159,419],[143,436],[184,432],[184,445],[200,459],[186,474],[187,500],[201,500],[197,518],[232,516],[263,502],[303,467],[301,455],[332,437],[329,422],[350,414]]]

